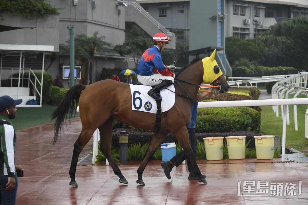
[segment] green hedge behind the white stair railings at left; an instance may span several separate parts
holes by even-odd
[[[34,75],[39,79],[39,81],[41,81],[42,72],[34,72]],[[13,73],[13,77],[18,78],[18,76],[19,76],[19,73]],[[28,78],[29,78],[29,72],[25,72],[23,84],[22,84],[22,79],[20,79],[20,87],[24,87],[24,88],[28,87]],[[30,75],[30,79],[33,83],[35,83],[35,77],[33,76],[33,74]],[[52,78],[51,74],[44,72],[44,74],[43,74],[42,104],[48,104],[49,94],[50,94],[50,89],[51,89],[52,83],[53,83],[53,78]],[[12,86],[18,87],[18,79],[12,80]],[[10,79],[2,80],[1,81],[1,87],[11,87],[11,80]],[[33,85],[31,83],[30,83],[29,88],[30,88],[29,95],[34,96],[34,94],[32,93]],[[41,91],[41,86],[38,83],[36,84],[36,88],[38,89],[39,92]],[[38,94],[36,95],[36,100],[38,101],[38,103],[40,102],[40,96]]]

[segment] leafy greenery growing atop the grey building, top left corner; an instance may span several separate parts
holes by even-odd
[[[4,21],[2,14],[12,14],[13,16],[23,15],[28,18],[44,18],[49,15],[59,15],[59,10],[46,0],[1,0],[0,18]]]

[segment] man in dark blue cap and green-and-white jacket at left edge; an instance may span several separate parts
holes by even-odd
[[[23,170],[15,164],[16,133],[11,122],[17,114],[16,105],[21,103],[22,99],[14,100],[7,95],[0,97],[0,202],[2,204],[16,203],[18,188],[16,170]]]

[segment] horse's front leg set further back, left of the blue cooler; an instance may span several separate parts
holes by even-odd
[[[166,136],[167,136],[166,133],[161,133],[161,132],[157,132],[157,131],[154,132],[154,136],[152,137],[152,140],[149,144],[149,148],[148,148],[148,151],[145,155],[145,158],[144,158],[144,160],[140,164],[140,167],[137,170],[138,180],[136,182],[138,184],[143,185],[143,186],[145,185],[145,183],[142,180],[143,171],[144,171],[145,167],[147,166],[150,157],[152,157],[154,155],[158,146],[164,141]]]

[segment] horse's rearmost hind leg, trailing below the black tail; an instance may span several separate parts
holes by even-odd
[[[82,128],[82,131],[78,139],[74,143],[74,151],[73,151],[73,156],[72,156],[72,161],[71,161],[71,167],[70,167],[70,171],[68,172],[71,177],[71,182],[69,183],[69,185],[72,187],[78,187],[78,184],[76,183],[76,180],[75,180],[78,157],[81,151],[83,150],[84,146],[89,142],[94,131],[95,130],[92,130],[92,129]]]

